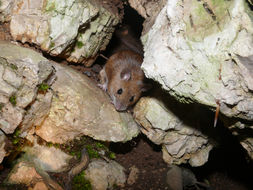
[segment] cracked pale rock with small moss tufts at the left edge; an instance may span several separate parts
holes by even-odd
[[[38,88],[53,76],[53,68],[47,59],[30,49],[2,41],[0,50],[0,127],[10,134],[29,114],[32,119],[21,125],[23,131],[41,122],[49,111],[50,92],[38,95]],[[39,102],[43,106],[31,113]]]

